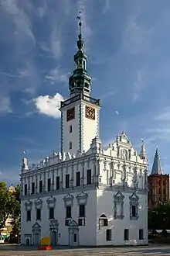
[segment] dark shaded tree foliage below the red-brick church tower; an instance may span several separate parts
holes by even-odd
[[[149,230],[170,230],[170,201],[148,211]]]

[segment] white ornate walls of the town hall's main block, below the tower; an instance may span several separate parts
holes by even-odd
[[[147,163],[138,156],[124,132],[107,150],[94,138],[86,153],[72,157],[53,152],[39,166],[29,169],[26,158],[23,162],[22,244],[39,244],[42,237],[51,237],[53,245],[148,244]],[[91,170],[90,179],[87,170]],[[80,184],[76,184],[77,171]],[[69,188],[66,175],[70,175]],[[57,190],[56,177],[59,177]],[[42,192],[39,181],[43,184]],[[32,182],[35,182],[33,192]],[[80,205],[85,208],[83,216]],[[67,206],[71,206],[68,219]],[[51,220],[50,207],[54,209]],[[41,220],[36,220],[37,209]]]

